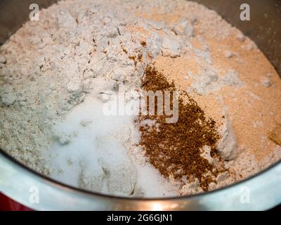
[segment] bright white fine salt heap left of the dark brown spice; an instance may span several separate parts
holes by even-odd
[[[57,124],[55,136],[67,141],[57,141],[48,150],[51,166],[58,170],[51,176],[92,191],[130,195],[135,168],[114,138],[130,122],[131,117],[103,115],[103,103],[93,96],[86,98]]]

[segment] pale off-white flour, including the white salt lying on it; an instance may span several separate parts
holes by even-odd
[[[192,13],[166,25],[137,17],[136,8]],[[89,191],[145,197],[200,191],[199,181],[181,187],[147,162],[136,146],[133,116],[102,110],[117,91],[141,89],[145,68],[158,56],[177,58],[191,49],[207,66],[188,91],[204,96],[243,85],[235,70],[218,77],[209,50],[190,44],[196,13],[214,14],[183,0],[67,0],[42,10],[39,23],[26,23],[0,47],[1,148],[42,174]],[[227,119],[220,131],[219,153],[232,160],[237,143]]]

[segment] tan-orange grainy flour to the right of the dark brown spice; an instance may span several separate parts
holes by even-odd
[[[150,8],[150,13],[139,13],[150,20],[171,25],[185,18],[185,7],[174,8],[172,13],[159,13],[156,8]],[[233,172],[232,178],[226,181],[228,184],[280,160],[280,144],[273,139],[277,136],[276,124],[281,121],[281,80],[256,45],[216,13],[205,13],[201,6],[193,4],[188,12],[194,25],[194,37],[190,39],[193,48],[177,58],[159,56],[155,67],[169,82],[174,81],[177,89],[188,90],[195,76],[204,70],[204,59],[197,54],[200,49],[209,53],[209,64],[219,77],[228,70],[239,74],[243,83],[239,89],[222,86],[204,96],[193,91],[189,93],[217,124],[222,124],[226,116],[231,121],[239,156],[233,162],[226,162]]]

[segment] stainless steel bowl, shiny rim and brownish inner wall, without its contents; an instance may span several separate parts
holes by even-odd
[[[56,0],[0,0],[0,44],[30,14],[30,4],[40,8]],[[93,0],[94,1],[94,0]],[[281,1],[197,0],[216,10],[251,37],[281,74]],[[240,20],[240,5],[251,6],[251,20]],[[32,201],[32,187],[39,194]],[[60,184],[15,161],[0,150],[0,191],[34,210],[267,210],[281,203],[281,162],[232,186],[178,198],[118,198]]]

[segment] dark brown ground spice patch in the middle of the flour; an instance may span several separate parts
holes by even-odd
[[[145,70],[142,80],[145,91],[175,91],[174,82],[169,84],[164,75],[152,66]],[[188,101],[185,101],[185,98]],[[171,99],[172,102],[172,99]],[[155,103],[157,112],[157,100]],[[199,179],[200,187],[208,191],[211,182],[216,182],[219,169],[202,158],[203,146],[211,147],[211,156],[218,158],[216,142],[220,138],[216,123],[207,118],[197,103],[182,92],[178,98],[178,122],[166,123],[166,115],[140,115],[137,122],[154,120],[155,125],[140,125],[140,145],[145,149],[150,163],[159,172],[174,179]]]

